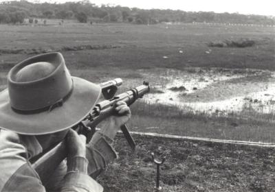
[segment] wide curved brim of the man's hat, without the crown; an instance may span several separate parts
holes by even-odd
[[[74,90],[63,106],[50,112],[39,112],[23,115],[14,112],[10,107],[8,89],[0,93],[0,128],[19,134],[50,134],[72,128],[86,117],[94,108],[101,93],[99,85],[72,77]]]

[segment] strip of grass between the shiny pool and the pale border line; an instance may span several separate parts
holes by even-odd
[[[274,114],[245,108],[241,112],[195,112],[192,108],[179,108],[137,101],[131,106],[131,129],[181,136],[212,139],[275,142]]]

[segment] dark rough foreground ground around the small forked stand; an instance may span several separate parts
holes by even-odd
[[[156,166],[151,152],[166,156],[162,191],[274,191],[275,149],[206,141],[134,136],[135,154],[122,136],[119,158],[99,178],[104,191],[154,191]]]

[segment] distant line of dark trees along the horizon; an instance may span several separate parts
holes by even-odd
[[[182,10],[143,10],[122,6],[95,5],[88,0],[67,3],[30,3],[25,0],[0,3],[0,23],[23,23],[24,19],[77,19],[80,23],[135,23],[163,22],[247,23],[275,25],[274,16],[238,13],[185,12]]]

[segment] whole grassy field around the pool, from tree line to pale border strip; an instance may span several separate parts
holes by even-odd
[[[48,51],[61,51],[72,75],[91,82],[122,77],[122,90],[144,80],[156,90],[159,69],[187,73],[197,73],[198,68],[237,73],[247,68],[274,71],[274,30],[225,25],[86,25],[71,21],[46,26],[0,25],[0,88],[5,88],[5,75],[14,64]],[[240,38],[252,39],[255,45],[208,47],[210,42]],[[263,83],[269,80],[263,78]],[[265,115],[253,108],[221,116],[140,102],[132,111],[129,125],[135,131],[275,142],[273,113]]]

